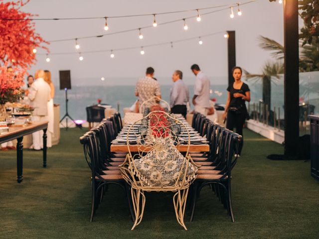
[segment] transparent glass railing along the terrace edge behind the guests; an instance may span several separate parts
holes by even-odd
[[[283,79],[283,78],[282,78]],[[283,80],[273,80],[271,84],[271,109],[276,107],[276,111],[280,108],[281,118],[284,117],[284,84]],[[194,78],[183,79],[189,88],[190,98],[193,96]],[[76,80],[75,80],[76,81]],[[169,93],[171,84],[170,78],[160,79],[162,98],[169,102]],[[128,85],[123,85],[128,82]],[[123,114],[123,108],[131,107],[136,101],[135,85],[136,79],[113,79],[105,85],[78,85],[72,86],[68,90],[68,107],[69,114],[73,119],[86,119],[85,108],[97,104],[97,100],[101,99],[102,103],[112,105]],[[214,82],[227,82],[227,78],[216,79],[211,78],[211,98],[216,99],[216,103],[225,104],[227,100],[227,85],[214,84]],[[57,86],[57,79],[55,85]],[[248,81],[251,90],[251,105],[258,104],[262,99],[261,81]],[[122,84],[122,85],[119,85]],[[54,103],[60,104],[61,117],[65,114],[65,92],[56,87]],[[315,114],[319,114],[319,72],[301,73],[300,74],[300,102],[315,105]],[[251,108],[252,109],[252,108]]]

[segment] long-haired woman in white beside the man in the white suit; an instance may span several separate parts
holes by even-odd
[[[52,147],[52,136],[53,136],[53,128],[54,128],[54,111],[53,111],[53,98],[54,98],[54,85],[51,80],[51,72],[48,70],[44,71],[44,81],[49,84],[51,88],[51,100],[48,102],[48,129],[47,129],[47,147]]]

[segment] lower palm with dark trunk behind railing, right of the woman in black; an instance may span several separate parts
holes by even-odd
[[[262,81],[263,87],[263,102],[267,105],[268,110],[270,111],[271,105],[271,81],[275,82],[281,79],[281,74],[284,73],[284,66],[282,61],[268,61],[263,67],[261,74],[251,74],[248,71],[244,70],[245,78],[247,81]],[[265,113],[265,112],[264,112]]]

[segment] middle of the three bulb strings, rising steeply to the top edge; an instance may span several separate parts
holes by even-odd
[[[240,5],[245,5],[245,4],[249,4],[249,3],[252,3],[252,2],[255,2],[256,0],[250,0],[250,1],[247,1],[247,2],[243,2],[243,3],[240,3]],[[235,7],[237,6],[237,3],[234,3],[231,5],[232,7]],[[224,10],[229,10],[229,4],[227,4],[227,7],[224,7],[224,8],[221,8],[221,9],[217,9],[217,10],[214,10],[214,11],[209,11],[209,12],[205,12],[205,13],[201,13],[200,15],[203,16],[203,15],[208,15],[208,14],[212,14],[212,13],[215,13],[215,12],[219,12],[219,11],[224,11]],[[201,9],[201,8],[198,8],[198,9]],[[152,16],[154,16],[154,14],[151,14]],[[157,15],[157,14],[156,14]],[[166,22],[161,22],[161,23],[158,23],[157,22],[157,26],[159,25],[166,25],[166,24],[170,24],[170,23],[174,23],[174,22],[179,22],[179,21],[183,21],[183,19],[191,19],[191,18],[194,18],[194,17],[197,17],[197,14],[196,15],[192,15],[192,16],[189,16],[189,17],[184,17],[184,18],[180,18],[180,19],[175,19],[175,20],[171,20],[171,21],[166,21]],[[103,17],[104,18],[104,17]],[[110,18],[108,16],[108,18]],[[109,35],[115,35],[115,34],[121,34],[121,33],[126,33],[126,32],[131,32],[131,31],[137,31],[139,29],[146,29],[146,28],[154,28],[153,24],[152,25],[147,25],[147,26],[143,26],[143,27],[138,27],[138,28],[132,28],[132,29],[127,29],[127,30],[122,30],[122,31],[115,31],[115,32],[109,32],[109,33],[104,33],[104,34],[101,34],[101,35],[92,35],[92,36],[83,36],[83,37],[77,37],[77,39],[89,39],[89,38],[95,38],[95,37],[103,37],[103,36],[109,36]],[[61,42],[61,41],[71,41],[71,40],[74,40],[74,37],[73,38],[65,38],[65,39],[58,39],[58,40],[51,40],[49,41],[50,43],[53,43],[53,42]]]

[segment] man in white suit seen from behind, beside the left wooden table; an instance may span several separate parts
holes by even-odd
[[[50,101],[50,86],[44,81],[44,71],[37,70],[35,72],[35,82],[31,85],[30,92],[28,94],[28,99],[30,100],[30,105],[34,108],[32,121],[38,122],[43,120],[48,120],[48,109],[47,103]],[[35,150],[40,150],[43,148],[43,131],[37,131],[32,133],[33,145],[31,148]]]

